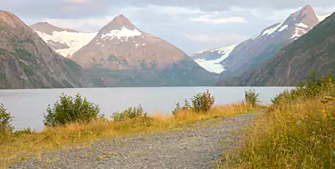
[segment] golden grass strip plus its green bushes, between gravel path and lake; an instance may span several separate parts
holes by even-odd
[[[47,127],[44,131],[37,133],[28,128],[13,133],[11,140],[0,142],[0,167],[17,161],[23,155],[40,156],[42,152],[49,149],[71,146],[73,143],[85,143],[134,133],[163,132],[206,119],[246,114],[252,110],[243,104],[212,108],[214,98],[208,92],[202,96],[209,98],[209,103],[212,101],[212,106],[205,106],[205,108],[211,108],[207,109],[206,113],[185,109],[174,116],[157,114],[148,117],[139,105],[121,113],[115,112],[108,119],[99,117],[98,107],[82,99],[80,94],[74,98],[63,94],[61,100],[54,104],[53,109],[47,109],[48,114],[45,119]]]

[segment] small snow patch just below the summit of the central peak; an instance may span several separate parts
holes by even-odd
[[[113,29],[109,33],[102,35],[101,39],[107,39],[109,38],[118,38],[121,39],[125,38],[126,41],[128,41],[128,38],[135,37],[135,36],[141,36],[142,33],[138,29],[130,30],[128,28],[122,27],[119,29]]]

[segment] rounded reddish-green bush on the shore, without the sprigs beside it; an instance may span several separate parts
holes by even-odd
[[[214,96],[209,93],[207,90],[207,93],[198,93],[196,96],[192,99],[192,106],[193,110],[196,112],[207,112],[208,110],[212,109],[214,106]]]

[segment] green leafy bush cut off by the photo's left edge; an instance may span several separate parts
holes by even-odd
[[[0,105],[0,137],[3,138],[8,134],[13,133],[14,127],[11,125],[13,122],[13,117],[7,109],[4,109],[4,104]]]

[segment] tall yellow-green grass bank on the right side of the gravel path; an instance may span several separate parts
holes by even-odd
[[[334,77],[278,95],[219,168],[335,168]]]

